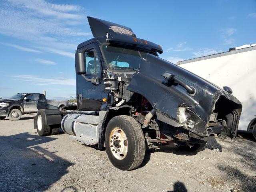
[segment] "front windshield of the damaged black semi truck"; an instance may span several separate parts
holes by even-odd
[[[135,70],[146,54],[144,52],[117,46],[104,45],[102,47],[108,67],[112,70]],[[143,54],[143,58],[142,58]]]

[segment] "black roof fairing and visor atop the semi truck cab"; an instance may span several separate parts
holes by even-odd
[[[109,42],[110,44],[127,45],[150,50],[159,54],[163,53],[162,48],[157,44],[136,38],[131,28],[93,17],[88,17],[88,22],[94,38],[79,44],[77,49],[85,46],[91,40],[98,40],[100,43]]]

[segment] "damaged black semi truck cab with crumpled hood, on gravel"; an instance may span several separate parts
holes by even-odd
[[[131,28],[88,21],[94,38],[75,54],[77,105],[39,110],[40,136],[61,128],[74,140],[105,147],[121,170],[140,166],[146,148],[171,141],[198,150],[214,134],[236,139],[242,105],[230,88],[161,59],[161,46]]]

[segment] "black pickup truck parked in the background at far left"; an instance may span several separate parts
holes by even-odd
[[[38,112],[40,109],[60,108],[68,105],[68,101],[47,100],[41,93],[18,93],[10,99],[0,100],[0,120],[8,118],[19,120],[22,114]]]

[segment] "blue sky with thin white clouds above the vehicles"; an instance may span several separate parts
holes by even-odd
[[[75,97],[74,52],[92,38],[86,16],[132,28],[173,63],[256,43],[256,0],[0,0],[0,97]]]

